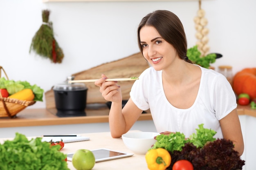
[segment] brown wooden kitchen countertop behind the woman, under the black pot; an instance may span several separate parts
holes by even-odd
[[[256,117],[256,110],[250,106],[238,105],[238,115],[249,115]],[[0,118],[0,128],[20,126],[45,126],[63,124],[88,124],[108,122],[109,109],[85,110],[86,116],[79,117],[58,117],[56,109],[29,109],[26,108],[17,114],[15,118]],[[141,114],[138,120],[152,120],[149,112]]]

